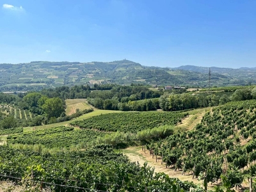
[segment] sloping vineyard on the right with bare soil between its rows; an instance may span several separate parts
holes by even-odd
[[[206,182],[218,182],[224,174],[234,187],[244,175],[256,173],[255,138],[256,101],[230,102],[206,113],[193,131],[173,134],[148,149],[180,174],[203,174]]]

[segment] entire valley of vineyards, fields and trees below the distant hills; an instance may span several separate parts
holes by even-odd
[[[23,94],[0,94],[6,188],[18,180],[17,189],[48,191],[232,191],[248,189],[246,178],[255,184],[254,86],[62,86]]]

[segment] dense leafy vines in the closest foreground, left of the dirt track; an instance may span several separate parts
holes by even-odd
[[[86,151],[39,154],[31,150],[0,147],[0,179],[22,179],[26,185],[51,187],[54,191],[77,188],[102,191],[195,191],[202,189],[191,182],[170,179],[154,173],[147,164],[138,166],[116,154],[108,145]],[[72,186],[72,187],[71,187]]]

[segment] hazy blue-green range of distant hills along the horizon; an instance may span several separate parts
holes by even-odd
[[[0,64],[0,91],[41,90],[95,83],[208,86],[209,67],[146,67],[129,60],[99,62],[31,61]],[[211,67],[212,86],[256,84],[255,68]]]

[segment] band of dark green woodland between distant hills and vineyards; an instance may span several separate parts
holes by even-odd
[[[77,111],[72,116],[65,115],[65,99],[87,98],[95,108],[121,111],[180,111],[193,108],[218,106],[229,101],[256,99],[256,88],[245,86],[234,92],[177,92],[150,90],[145,86],[122,86],[116,84],[88,84],[81,86],[61,86],[41,92],[18,94],[0,93],[0,103],[13,104],[35,114],[29,121],[15,120],[0,115],[0,127],[34,126],[63,122],[90,111]],[[1,123],[1,120],[3,122]]]

